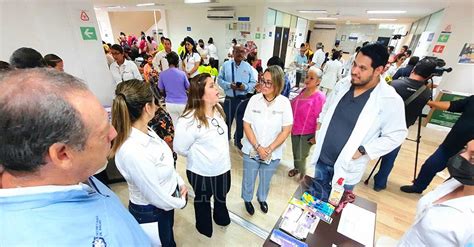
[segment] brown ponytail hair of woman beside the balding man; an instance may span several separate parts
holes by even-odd
[[[132,79],[117,85],[112,103],[112,125],[117,130],[117,137],[112,142],[109,157],[115,155],[127,140],[132,124],[142,115],[143,107],[151,102],[154,102],[153,92],[147,83]]]

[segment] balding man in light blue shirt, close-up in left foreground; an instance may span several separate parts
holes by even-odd
[[[117,132],[84,83],[46,69],[2,74],[0,115],[0,245],[151,245],[92,177]]]

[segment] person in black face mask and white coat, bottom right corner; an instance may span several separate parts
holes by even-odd
[[[420,199],[399,246],[474,245],[474,139],[447,167],[452,178]]]

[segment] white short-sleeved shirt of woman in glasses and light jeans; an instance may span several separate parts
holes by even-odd
[[[243,120],[252,126],[258,144],[268,147],[275,141],[283,127],[293,124],[290,101],[280,94],[270,105],[267,105],[263,94],[256,94],[250,98]],[[242,140],[242,146],[242,152],[245,154],[253,150],[247,136]],[[282,158],[284,146],[285,143],[273,150],[272,160]]]

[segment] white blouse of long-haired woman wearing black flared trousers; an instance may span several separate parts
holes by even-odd
[[[208,117],[209,127],[194,114],[178,118],[173,149],[187,157],[187,169],[201,176],[214,177],[230,170],[229,140],[224,118],[217,112]]]

